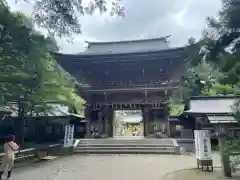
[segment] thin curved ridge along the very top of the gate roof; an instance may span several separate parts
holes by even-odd
[[[123,43],[133,43],[133,42],[147,42],[147,41],[158,41],[158,40],[167,40],[167,38],[171,37],[171,35],[159,37],[159,38],[150,38],[150,39],[135,39],[135,40],[123,40],[123,41],[99,41],[99,42],[91,42],[84,41],[89,46],[90,45],[103,45],[103,44],[123,44]]]

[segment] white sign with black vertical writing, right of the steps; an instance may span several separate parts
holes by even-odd
[[[199,160],[211,160],[212,148],[210,132],[208,130],[195,130],[195,149],[196,157]]]

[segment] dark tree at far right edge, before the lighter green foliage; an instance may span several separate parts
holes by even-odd
[[[240,2],[222,0],[220,18],[209,18],[209,27],[214,33],[206,44],[207,60],[223,73],[220,83],[239,89],[240,83]],[[239,94],[239,92],[237,92]],[[239,109],[236,102],[234,109]],[[238,112],[238,111],[237,111]],[[238,114],[238,113],[237,113]]]

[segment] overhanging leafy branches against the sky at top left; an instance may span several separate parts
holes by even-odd
[[[1,0],[3,1],[3,0]],[[23,0],[28,2],[28,0]],[[29,0],[34,6],[33,19],[51,35],[69,36],[81,33],[81,16],[110,13],[124,17],[121,0]]]

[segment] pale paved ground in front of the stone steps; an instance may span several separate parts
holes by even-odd
[[[219,165],[218,155],[214,155]],[[167,173],[195,168],[194,156],[184,155],[73,155],[17,168],[13,180],[160,180]]]

